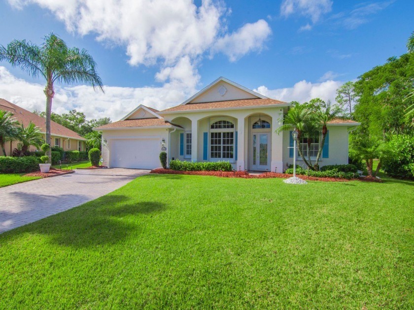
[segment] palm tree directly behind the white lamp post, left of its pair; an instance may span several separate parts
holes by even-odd
[[[309,134],[315,130],[314,114],[312,113],[310,105],[300,104],[297,101],[292,101],[291,103],[292,106],[290,107],[290,110],[286,115],[283,116],[283,119],[280,120],[283,121],[283,125],[278,127],[276,129],[276,132],[279,134],[284,130],[291,130],[293,128],[296,128],[298,130],[298,141],[300,141],[302,137],[308,136],[309,138]],[[293,152],[296,152],[296,150]],[[311,170],[314,170],[312,163],[305,158],[299,143],[298,153],[302,157],[302,160],[305,162],[305,164]]]

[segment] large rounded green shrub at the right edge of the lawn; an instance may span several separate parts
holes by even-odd
[[[414,136],[394,135],[389,152],[381,158],[382,169],[391,177],[414,179]]]

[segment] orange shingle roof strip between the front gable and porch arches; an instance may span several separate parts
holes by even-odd
[[[230,101],[218,101],[218,102],[205,102],[205,103],[187,103],[184,105],[177,105],[175,107],[161,111],[163,112],[175,112],[175,111],[194,111],[205,109],[225,109],[225,108],[242,108],[242,107],[255,107],[266,106],[274,104],[288,104],[276,99],[241,99]]]

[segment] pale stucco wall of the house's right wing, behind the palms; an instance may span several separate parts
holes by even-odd
[[[328,125],[329,130],[329,157],[320,158],[319,166],[347,164],[348,163],[348,127]],[[289,157],[289,131],[283,132],[283,169],[293,164],[293,157]],[[321,156],[322,157],[322,156]],[[298,155],[297,164],[307,168],[302,158]],[[312,160],[314,163],[314,160]],[[286,165],[287,164],[287,165]]]

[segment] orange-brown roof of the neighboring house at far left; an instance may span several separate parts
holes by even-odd
[[[13,117],[22,123],[25,127],[30,124],[30,122],[33,122],[37,127],[40,128],[40,130],[45,133],[46,132],[46,119],[36,115],[35,113],[29,112],[28,110],[25,110],[18,105],[15,105],[7,100],[0,98],[0,110],[3,111],[9,111],[13,113]],[[70,130],[66,128],[65,126],[62,126],[61,124],[58,124],[56,122],[51,121],[50,123],[50,130],[52,135],[58,135],[58,136],[65,136],[70,137],[77,140],[86,141],[85,138],[78,135],[73,130]]]

